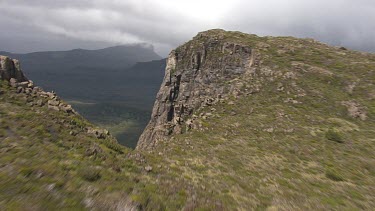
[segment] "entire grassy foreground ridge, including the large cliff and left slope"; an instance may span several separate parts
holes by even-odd
[[[209,30],[168,60],[132,151],[1,82],[0,208],[375,207],[374,54]]]

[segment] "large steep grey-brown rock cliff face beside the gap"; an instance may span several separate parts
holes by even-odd
[[[223,30],[199,33],[173,50],[137,148],[152,148],[171,134],[191,129],[194,111],[225,98],[234,89],[227,82],[250,72],[253,65],[249,45],[226,40]]]

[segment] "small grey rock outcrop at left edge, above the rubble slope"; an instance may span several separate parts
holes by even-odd
[[[27,81],[27,78],[21,71],[20,63],[16,59],[10,59],[7,56],[0,56],[0,80],[10,81],[11,78],[18,82]]]

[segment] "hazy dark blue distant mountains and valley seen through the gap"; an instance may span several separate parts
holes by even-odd
[[[56,91],[131,147],[149,119],[165,69],[165,59],[143,45],[0,55],[22,61],[35,84]]]

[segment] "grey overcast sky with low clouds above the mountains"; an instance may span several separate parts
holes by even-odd
[[[0,51],[150,43],[166,56],[212,28],[375,51],[375,0],[0,0]]]

